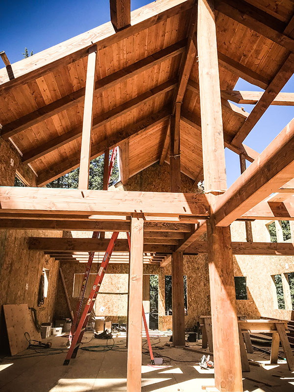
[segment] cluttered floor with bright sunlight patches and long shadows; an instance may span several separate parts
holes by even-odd
[[[85,334],[87,341],[91,333]],[[160,340],[159,340],[160,339]],[[147,355],[142,356],[142,391],[160,392],[195,392],[201,391],[202,386],[214,385],[213,370],[200,369],[198,362],[201,354],[180,348],[165,346],[168,337],[152,340],[155,356],[168,356],[174,360],[164,358],[162,367],[151,367]],[[52,347],[64,348],[64,353],[56,355],[35,356],[16,359],[13,357],[0,360],[0,392],[124,392],[126,390],[126,352],[124,340],[116,338],[115,343],[121,344],[119,349],[107,352],[89,352],[79,350],[76,359],[69,366],[63,366],[66,356],[66,342],[64,337],[51,337]],[[105,344],[105,341],[93,339],[83,346]],[[189,343],[190,346],[200,343]],[[26,350],[22,354],[33,353]],[[288,370],[287,364],[269,365],[269,356],[256,351],[249,358],[259,361],[263,368],[250,366],[250,373],[243,373],[244,377],[268,382],[266,386],[261,382],[244,379],[244,390],[250,392],[290,392],[294,391],[294,373]],[[192,362],[179,362],[192,361]],[[268,364],[268,365],[267,365]],[[273,376],[278,375],[278,377]]]

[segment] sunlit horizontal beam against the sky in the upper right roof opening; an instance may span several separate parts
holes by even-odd
[[[223,98],[242,105],[255,105],[262,95],[262,91],[221,90],[221,96]],[[279,93],[270,104],[277,106],[294,106],[294,93]]]

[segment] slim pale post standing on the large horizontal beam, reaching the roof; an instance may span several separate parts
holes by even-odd
[[[88,189],[97,46],[89,49],[78,189]]]

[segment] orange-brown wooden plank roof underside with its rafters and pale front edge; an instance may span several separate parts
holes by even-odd
[[[244,6],[250,12],[240,23]],[[79,165],[86,56],[94,43],[98,53],[91,157],[127,141],[123,151],[128,151],[128,176],[169,161],[169,115],[193,7],[191,0],[156,1],[132,12],[131,26],[117,33],[109,22],[12,64],[12,80],[5,68],[0,70],[1,135],[11,137],[23,161],[38,174],[38,185]],[[293,63],[293,1],[218,0],[216,10],[221,90],[233,90],[239,76],[266,89],[285,61]],[[283,71],[279,83],[290,76]],[[198,82],[195,57],[180,123],[181,171],[194,180],[202,171]],[[226,98],[222,116],[230,147],[234,138],[240,144],[254,121],[245,129],[248,114]]]

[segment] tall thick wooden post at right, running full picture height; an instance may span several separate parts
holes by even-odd
[[[210,194],[207,242],[215,384],[241,392],[242,370],[229,227],[214,224],[215,199],[226,190],[221,91],[213,0],[198,0],[197,49],[205,193]],[[216,195],[216,196],[214,196]]]

